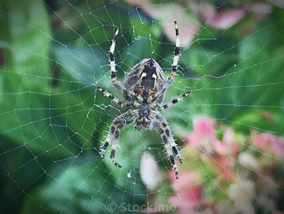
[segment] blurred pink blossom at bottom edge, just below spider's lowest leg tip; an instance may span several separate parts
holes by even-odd
[[[202,186],[199,184],[201,175],[198,172],[182,172],[176,179],[174,172],[170,173],[172,186],[177,194],[169,198],[169,203],[179,207],[179,213],[195,213],[201,199]]]

